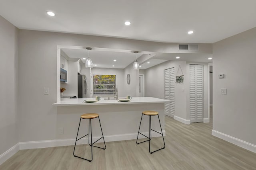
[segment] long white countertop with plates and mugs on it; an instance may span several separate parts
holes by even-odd
[[[129,102],[119,102],[117,100],[102,100],[93,102],[93,103],[84,103],[85,98],[80,99],[70,99],[70,98],[62,98],[60,102],[54,103],[54,106],[88,106],[88,105],[111,105],[111,104],[150,104],[150,103],[165,103],[172,102],[170,100],[164,100],[159,98],[152,97],[133,97]]]

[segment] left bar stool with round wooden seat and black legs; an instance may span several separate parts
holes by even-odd
[[[86,137],[88,135],[88,144],[90,145],[91,147],[91,152],[92,152],[92,147],[96,147],[96,146],[93,146],[94,143],[98,142],[100,139],[103,138],[103,141],[104,141],[104,145],[105,145],[105,148],[101,148],[101,147],[97,147],[97,148],[101,148],[101,149],[106,149],[106,144],[105,144],[105,140],[104,140],[104,136],[103,136],[103,133],[102,133],[102,128],[101,128],[101,124],[100,124],[100,129],[101,129],[101,133],[102,133],[102,137],[100,139],[98,139],[97,141],[95,141],[94,143],[92,143],[92,119],[95,119],[97,118],[99,119],[99,122],[100,122],[100,117],[97,113],[85,113],[85,114],[82,114],[81,117],[80,117],[80,122],[79,122],[79,126],[78,126],[78,131],[77,131],[77,135],[76,135],[76,141],[78,141],[79,139],[82,139],[83,137]],[[87,135],[84,135],[83,137],[80,137],[79,139],[77,139],[78,137],[78,132],[79,132],[79,127],[80,127],[80,123],[81,123],[81,119],[88,119],[88,124],[89,124],[89,129],[88,129],[88,134]],[[91,144],[90,144],[90,135],[91,135]],[[79,156],[76,156],[75,155],[75,149],[76,149],[76,143],[75,143],[75,147],[74,147],[74,152],[73,152],[73,155],[75,157],[78,157],[78,158],[81,158]],[[86,158],[82,158],[84,160],[88,160],[89,162],[92,161],[89,160],[89,159],[86,159]]]

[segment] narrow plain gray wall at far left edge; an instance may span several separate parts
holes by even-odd
[[[0,16],[0,155],[18,143],[18,29]]]

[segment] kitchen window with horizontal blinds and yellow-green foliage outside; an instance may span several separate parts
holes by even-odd
[[[93,74],[93,95],[116,94],[116,75]]]

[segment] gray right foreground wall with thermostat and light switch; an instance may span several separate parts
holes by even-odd
[[[213,129],[254,145],[255,45],[256,28],[213,44]],[[220,88],[227,88],[227,95]]]

